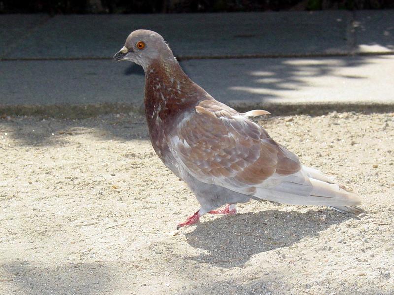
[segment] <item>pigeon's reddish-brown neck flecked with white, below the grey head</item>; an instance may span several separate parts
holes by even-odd
[[[156,60],[145,69],[145,112],[149,120],[166,122],[193,108],[206,92],[193,83],[179,63]]]

